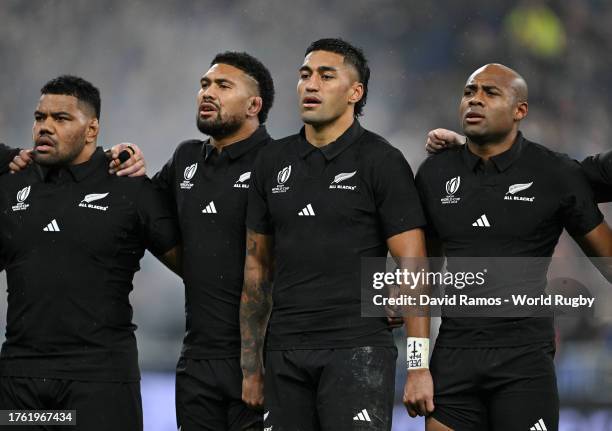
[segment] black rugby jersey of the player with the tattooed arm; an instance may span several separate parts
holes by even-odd
[[[357,121],[322,148],[304,130],[264,148],[247,227],[274,235],[270,349],[392,346],[385,318],[362,318],[362,257],[425,224],[401,152]]]

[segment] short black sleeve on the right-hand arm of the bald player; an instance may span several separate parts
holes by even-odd
[[[572,162],[561,176],[561,218],[572,236],[583,236],[603,221],[593,190],[582,169]]]

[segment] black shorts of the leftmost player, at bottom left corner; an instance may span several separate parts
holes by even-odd
[[[20,431],[139,431],[139,382],[0,377],[0,410],[76,410],[76,426],[0,426]]]

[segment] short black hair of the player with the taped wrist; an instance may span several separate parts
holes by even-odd
[[[361,48],[357,48],[342,39],[327,38],[312,42],[306,49],[306,54],[304,54],[304,56],[307,56],[312,51],[328,51],[340,54],[344,57],[345,63],[350,64],[357,70],[359,82],[363,84],[363,97],[355,104],[355,117],[363,115],[363,107],[368,98],[370,68],[368,67],[368,60],[365,58],[365,54]]]

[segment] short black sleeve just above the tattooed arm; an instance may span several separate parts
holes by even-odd
[[[260,153],[251,171],[246,225],[247,228],[257,233],[272,235],[274,232],[265,190],[265,172],[264,158]]]

